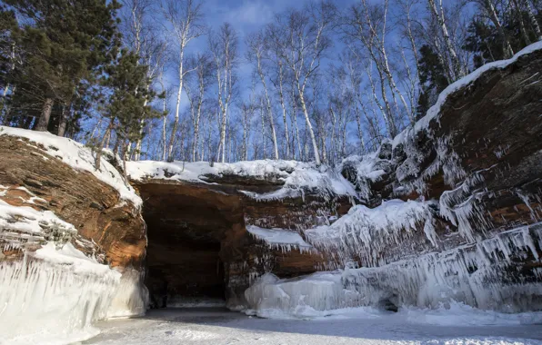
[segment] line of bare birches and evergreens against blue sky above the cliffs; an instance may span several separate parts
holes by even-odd
[[[542,39],[541,0],[308,2],[241,37],[197,0],[4,0],[0,122],[123,160],[339,163]],[[250,72],[250,78],[243,73]]]

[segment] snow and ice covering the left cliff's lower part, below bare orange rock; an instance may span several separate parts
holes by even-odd
[[[95,320],[145,312],[137,271],[121,277],[72,243],[93,252],[94,244],[53,212],[0,200],[0,248],[20,253],[0,258],[0,343],[85,340],[97,332]]]

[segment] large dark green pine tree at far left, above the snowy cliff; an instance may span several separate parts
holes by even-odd
[[[29,23],[14,35],[25,52],[15,80],[24,86],[16,94],[18,106],[26,114],[39,113],[35,129],[45,131],[54,109],[60,112],[61,123],[68,120],[77,86],[92,80],[92,74],[99,74],[115,55],[120,43],[115,18],[119,5],[115,0],[5,2]]]

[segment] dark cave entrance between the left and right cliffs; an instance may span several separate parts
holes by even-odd
[[[152,308],[226,301],[222,242],[239,222],[236,199],[206,188],[142,184],[147,225],[146,287]]]

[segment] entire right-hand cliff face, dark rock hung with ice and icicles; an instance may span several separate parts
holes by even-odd
[[[541,48],[469,74],[413,128],[347,158],[339,169],[365,205],[299,232],[338,271],[253,277],[249,308],[304,316],[461,302],[542,311]],[[272,233],[258,234],[273,245]]]

